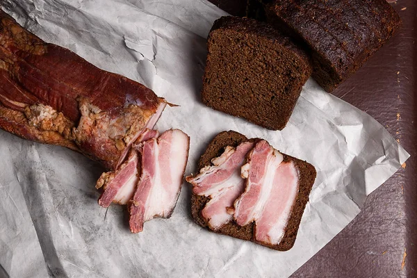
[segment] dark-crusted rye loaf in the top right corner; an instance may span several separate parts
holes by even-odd
[[[401,24],[386,0],[276,0],[268,22],[304,43],[327,92],[356,72]]]

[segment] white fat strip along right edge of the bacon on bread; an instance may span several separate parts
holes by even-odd
[[[293,209],[293,205],[297,197],[298,172],[293,162],[291,162],[291,176],[295,177],[291,184],[288,184],[288,182],[286,182],[288,177],[281,177],[281,179],[283,179],[283,182],[280,183],[280,186],[291,188],[291,192],[286,197],[285,208],[284,211],[282,211],[279,220],[275,222],[275,224],[273,224],[273,226],[270,228],[270,231],[268,231],[268,237],[270,238],[270,242],[273,245],[279,244],[282,238],[284,237],[286,225],[288,224],[288,220],[290,220],[291,211]],[[282,191],[284,191],[284,188],[282,189]]]

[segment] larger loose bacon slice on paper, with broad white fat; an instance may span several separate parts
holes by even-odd
[[[181,190],[189,147],[190,138],[179,129],[138,145],[142,171],[130,206],[132,233],[142,231],[143,224],[152,218],[170,218]]]

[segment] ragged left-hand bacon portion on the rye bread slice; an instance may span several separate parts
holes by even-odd
[[[221,156],[213,158],[213,166],[200,170],[197,176],[186,177],[193,184],[193,193],[210,197],[202,209],[202,217],[214,231],[233,219],[229,208],[245,189],[240,167],[254,142],[243,142],[236,149],[227,146]]]

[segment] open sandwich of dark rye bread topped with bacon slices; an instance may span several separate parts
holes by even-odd
[[[237,154],[248,143],[253,147],[245,149],[247,154],[242,161]],[[226,166],[232,171],[225,170]],[[236,131],[223,131],[201,156],[199,169],[199,174],[187,177],[193,184],[191,211],[197,224],[274,250],[286,251],[293,247],[316,179],[313,165],[279,153],[265,140],[248,140]],[[224,172],[240,173],[240,182],[234,181],[239,187],[235,188],[238,194],[224,191],[231,190],[231,177],[236,177]],[[219,181],[228,185],[222,186]],[[210,182],[214,186],[209,186]],[[222,195],[233,197],[220,202]],[[213,203],[217,204],[214,208]],[[228,218],[224,211],[230,215]]]

